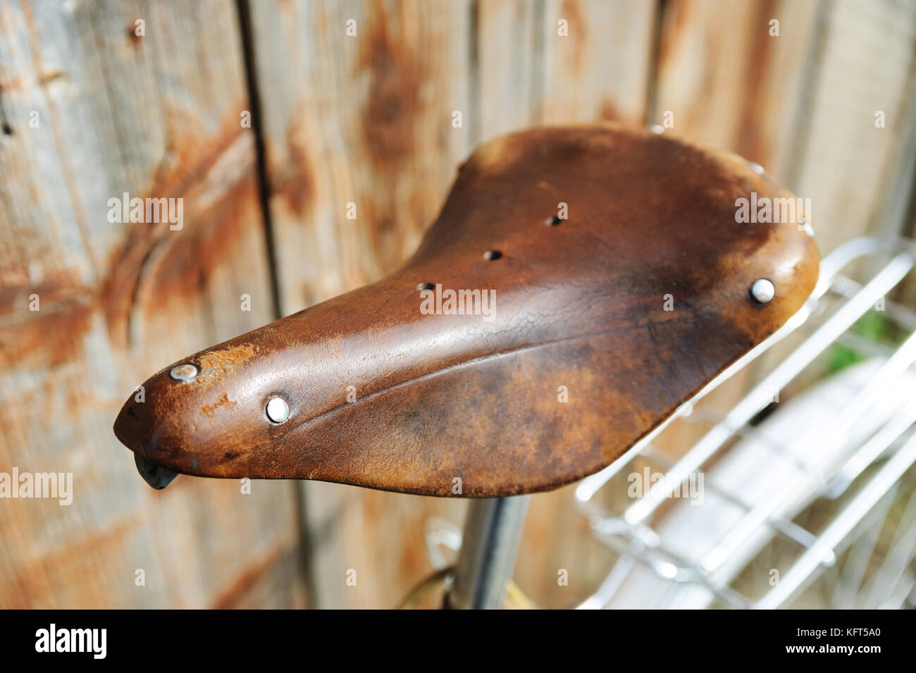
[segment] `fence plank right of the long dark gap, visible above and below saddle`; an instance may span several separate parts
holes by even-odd
[[[270,2],[252,5],[251,16],[289,313],[396,268],[437,214],[471,147],[470,4]],[[460,521],[464,506],[332,484],[303,489],[320,607],[396,604],[431,570],[424,518],[452,512]]]

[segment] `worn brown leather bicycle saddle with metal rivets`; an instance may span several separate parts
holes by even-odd
[[[801,212],[736,222],[752,192],[793,198],[755,168],[615,125],[488,142],[400,270],[163,369],[114,433],[156,487],[183,472],[494,496],[581,479],[814,288]]]

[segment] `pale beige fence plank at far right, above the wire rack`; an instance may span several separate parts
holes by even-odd
[[[862,58],[867,54],[867,58]],[[836,0],[798,134],[793,189],[811,199],[823,252],[877,231],[907,159],[916,99],[916,3]],[[884,116],[883,127],[876,114]],[[898,225],[899,226],[899,225]]]

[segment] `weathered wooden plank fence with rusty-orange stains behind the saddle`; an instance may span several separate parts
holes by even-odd
[[[914,57],[912,0],[4,0],[0,472],[72,472],[73,501],[0,500],[0,607],[394,605],[431,570],[424,522],[465,503],[153,492],[111,430],[126,397],[396,268],[472,148],[529,125],[736,151],[811,199],[824,251],[900,229]],[[125,194],[181,199],[182,226],[112,222]],[[533,497],[536,602],[608,563],[570,489]]]

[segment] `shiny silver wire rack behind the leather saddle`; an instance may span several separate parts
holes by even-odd
[[[916,310],[888,299],[914,259],[903,239],[837,248],[780,331],[576,487],[616,558],[579,608],[916,602]],[[863,334],[869,320],[878,338]],[[741,372],[758,383],[734,407],[694,410]],[[705,431],[660,450],[671,424]]]

